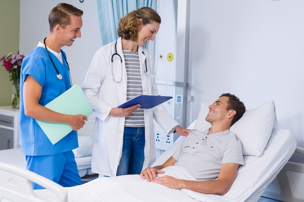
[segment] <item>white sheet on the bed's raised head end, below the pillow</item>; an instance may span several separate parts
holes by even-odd
[[[253,198],[282,170],[296,146],[289,129],[274,131],[263,156],[244,156],[245,165],[238,169],[234,183],[224,196],[239,202]]]

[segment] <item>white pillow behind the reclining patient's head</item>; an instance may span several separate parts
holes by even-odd
[[[194,129],[203,132],[211,127],[211,124],[205,120],[208,111],[208,106],[202,103]],[[243,155],[261,156],[275,123],[275,107],[271,100],[256,109],[246,110],[244,115],[230,127],[230,131],[234,132],[241,141]]]

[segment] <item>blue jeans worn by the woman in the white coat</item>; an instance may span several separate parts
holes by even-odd
[[[145,159],[145,128],[125,127],[117,176],[140,174]]]

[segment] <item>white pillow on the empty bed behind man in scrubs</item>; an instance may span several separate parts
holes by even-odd
[[[92,155],[92,145],[93,137],[92,136],[78,136],[78,145],[79,147],[73,149],[75,158],[85,157]]]

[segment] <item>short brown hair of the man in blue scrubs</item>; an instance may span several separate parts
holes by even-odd
[[[49,15],[50,31],[58,24],[65,29],[71,23],[71,15],[81,17],[83,14],[82,10],[68,3],[58,3]]]

